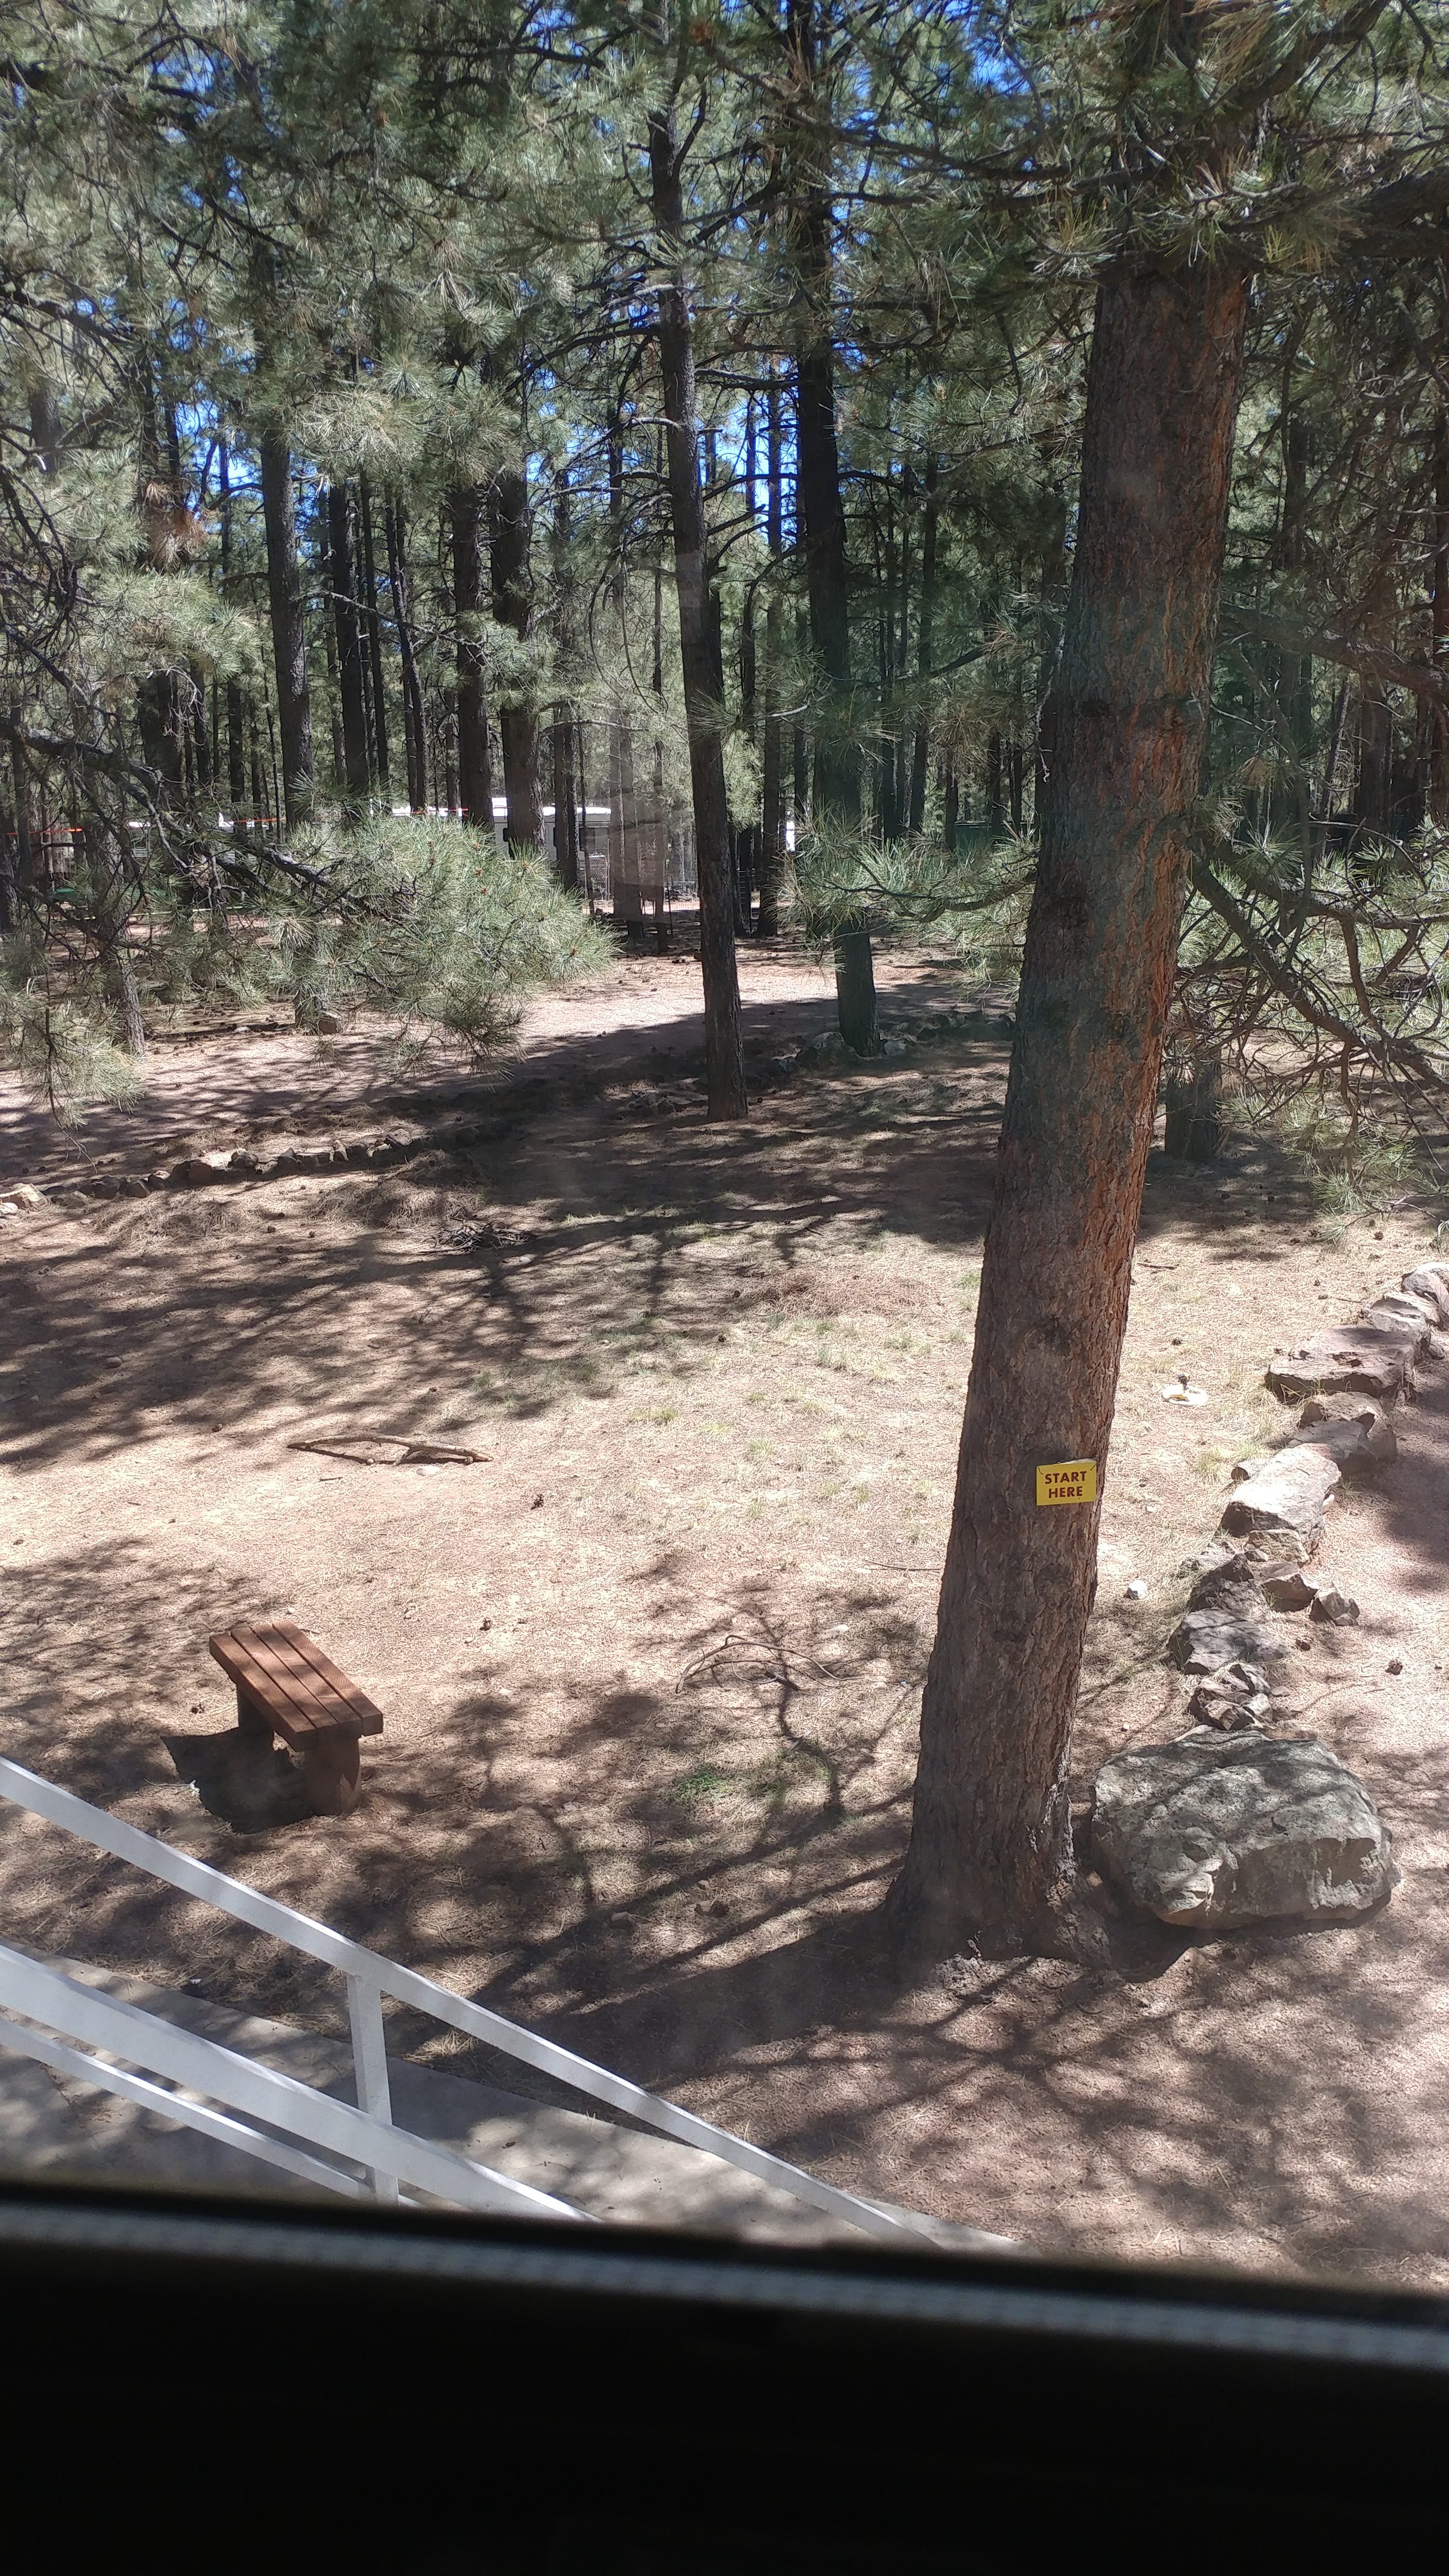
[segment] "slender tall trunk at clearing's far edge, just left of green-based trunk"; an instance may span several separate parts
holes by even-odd
[[[665,258],[683,250],[681,144],[673,106],[650,113],[650,193]],[[660,289],[660,374],[678,592],[678,649],[694,791],[699,868],[699,963],[704,974],[704,1084],[709,1118],[745,1118],[745,1033],[735,966],[735,878],[730,866],[730,801],[724,796],[724,670],[709,605],[704,492],[699,484],[699,410],[694,330],[683,276]]]

